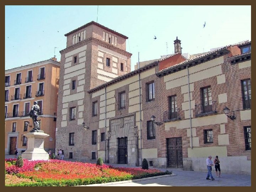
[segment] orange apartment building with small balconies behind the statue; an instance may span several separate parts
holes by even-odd
[[[40,129],[49,137],[44,149],[55,150],[55,128],[60,63],[56,58],[5,70],[5,154],[21,155],[27,148],[23,136],[33,128],[28,113],[38,102]]]

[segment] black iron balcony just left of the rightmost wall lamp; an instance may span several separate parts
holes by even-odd
[[[209,101],[195,105],[196,117],[217,113],[216,101]]]

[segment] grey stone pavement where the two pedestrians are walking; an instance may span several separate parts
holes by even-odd
[[[5,158],[14,158],[14,155],[5,155]],[[128,165],[107,164],[114,167],[135,167]],[[152,169],[153,167],[149,167]],[[205,172],[183,171],[182,169],[159,169],[161,171],[172,171],[172,175],[162,175],[148,177],[138,180],[118,181],[112,183],[101,183],[86,186],[251,186],[251,175],[225,174],[216,177],[215,170],[212,174],[214,181],[206,180],[207,168]]]

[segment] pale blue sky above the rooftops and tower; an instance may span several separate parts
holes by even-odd
[[[140,62],[174,53],[177,36],[189,54],[251,41],[251,6],[99,5],[98,18],[97,5],[5,6],[5,69],[50,59],[54,47],[60,60],[64,34],[91,21],[128,37],[132,70],[138,52]]]

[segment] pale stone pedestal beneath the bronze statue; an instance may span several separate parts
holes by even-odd
[[[49,137],[42,130],[24,134],[27,137],[27,150],[21,154],[23,159],[48,160],[49,154],[44,150],[44,139]]]

